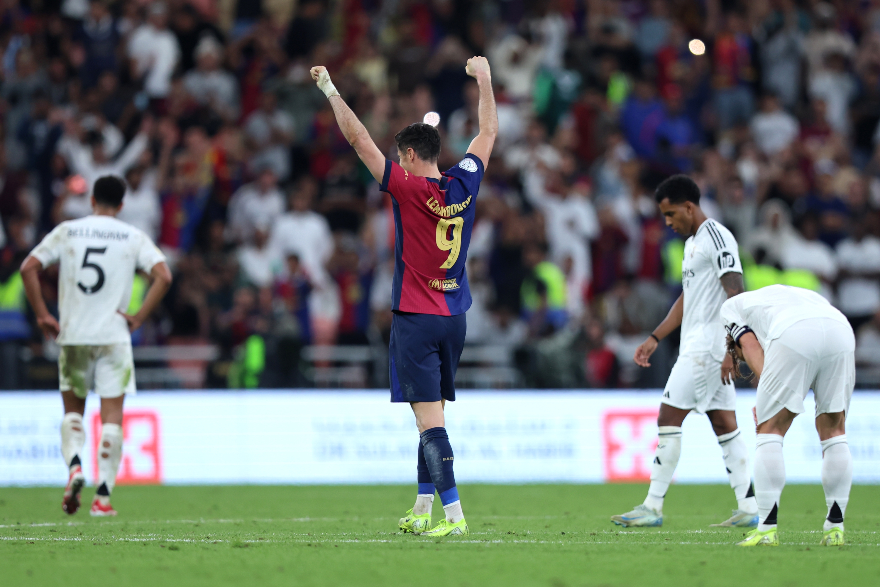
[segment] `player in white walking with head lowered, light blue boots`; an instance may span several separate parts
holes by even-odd
[[[657,343],[681,325],[678,361],[672,367],[657,416],[659,438],[645,502],[612,516],[624,526],[663,525],[663,503],[681,453],[681,424],[691,410],[708,415],[737,509],[721,526],[753,526],[758,507],[749,477],[749,454],[737,428],[737,394],[730,374],[733,360],[724,352],[719,311],[724,300],[743,291],[743,267],[737,240],[700,209],[700,188],[686,175],[673,175],[656,190],[666,225],[687,237],[681,264],[682,292],[660,326],[635,350],[634,361],[649,367]],[[723,364],[722,364],[723,361]]]

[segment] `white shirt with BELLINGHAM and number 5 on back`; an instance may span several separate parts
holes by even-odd
[[[165,261],[146,234],[112,216],[85,216],[58,224],[31,252],[58,275],[60,345],[131,341],[124,312],[135,272]]]

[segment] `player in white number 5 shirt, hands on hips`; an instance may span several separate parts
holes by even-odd
[[[85,444],[85,397],[92,386],[101,399],[101,438],[98,452],[98,490],[92,516],[115,516],[110,493],[122,457],[122,402],[136,393],[131,331],[158,305],[171,285],[165,256],[150,237],[117,220],[125,183],[107,175],[92,190],[92,216],[62,222],[36,246],[21,265],[27,299],[37,324],[61,346],[58,387],[64,402],[61,451],[70,468],[62,509],[74,514],[85,484],[79,452]],[[58,314],[48,312],[40,290],[40,268],[60,264]],[[152,278],[141,309],[128,308],[137,270]]]

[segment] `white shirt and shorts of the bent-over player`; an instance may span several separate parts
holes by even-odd
[[[847,318],[810,290],[769,285],[731,297],[722,319],[734,340],[752,332],[764,349],[758,422],[783,407],[803,413],[810,388],[816,414],[849,410],[855,386],[855,335]]]

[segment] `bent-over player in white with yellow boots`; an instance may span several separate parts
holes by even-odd
[[[855,386],[855,335],[847,318],[818,293],[770,285],[724,302],[721,316],[728,352],[758,378],[755,420],[755,497],[759,525],[741,547],[779,545],[776,517],[785,487],[782,437],[803,398],[816,398],[816,430],[822,445],[822,488],[828,514],[821,545],[844,543],[843,516],[853,485],[847,444],[847,411]]]

